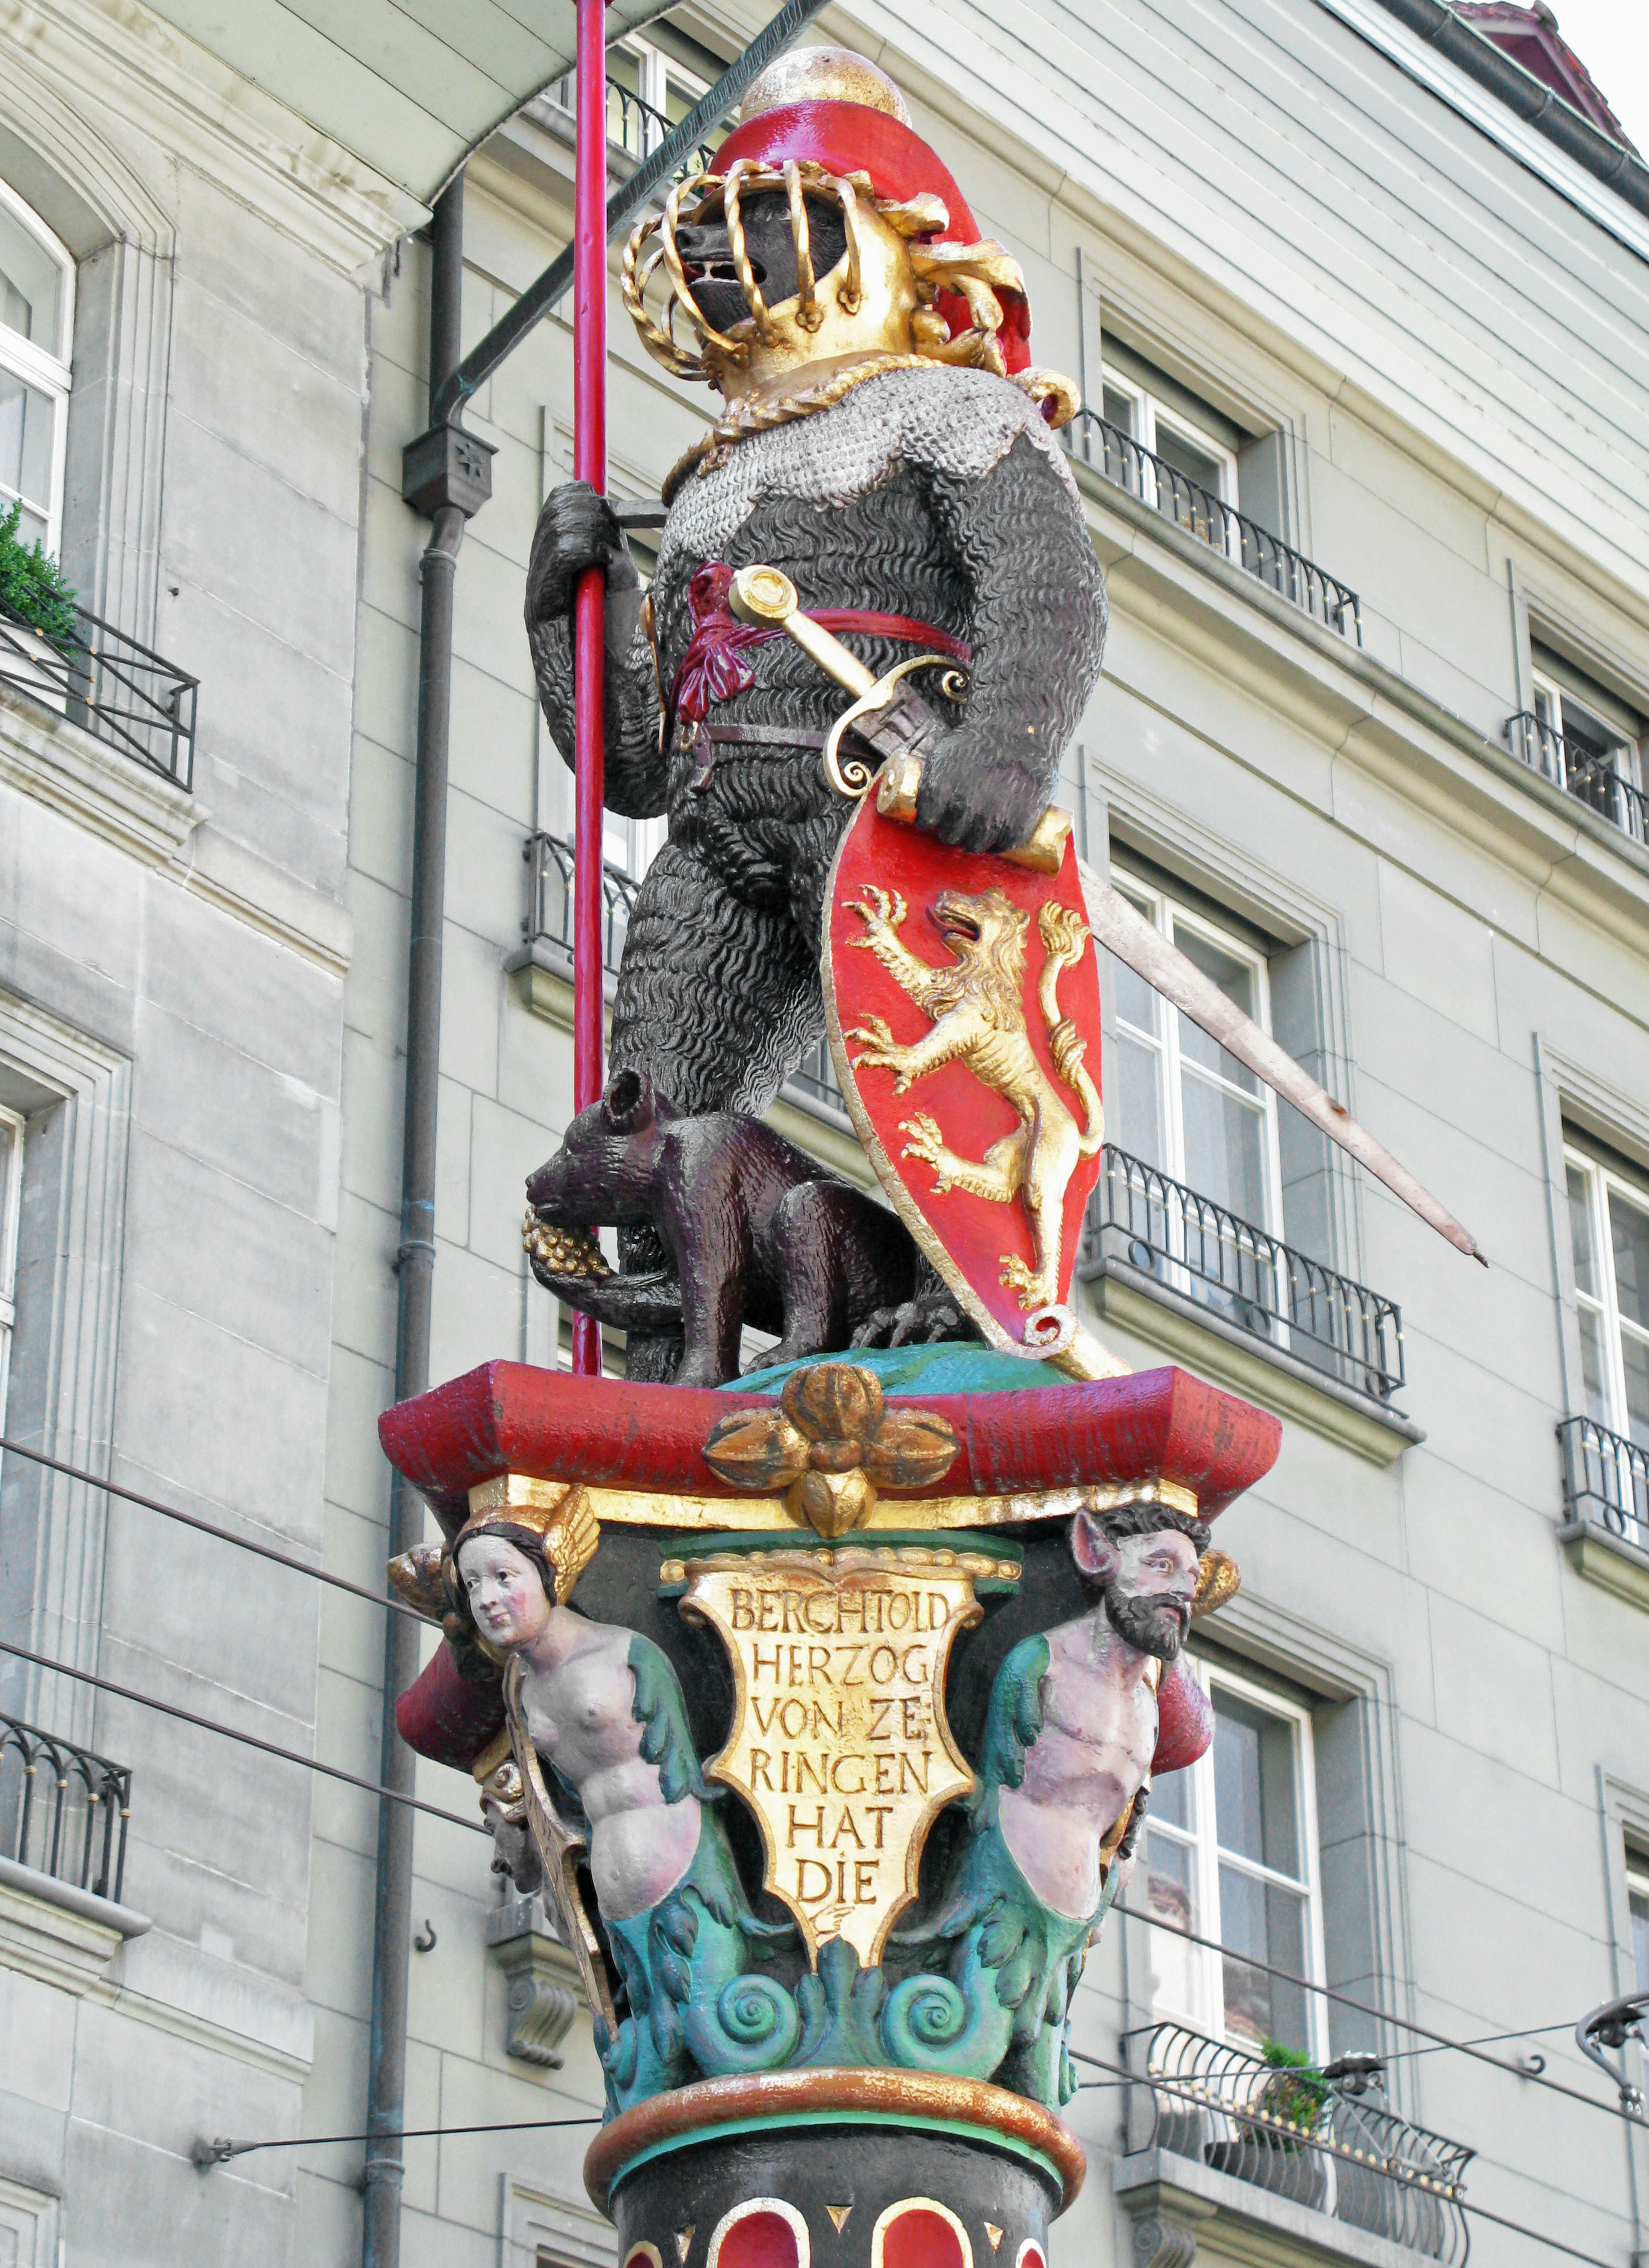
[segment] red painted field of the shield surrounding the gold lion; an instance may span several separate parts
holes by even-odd
[[[851,907],[866,885],[880,885],[882,889],[898,891],[905,898],[910,914],[898,934],[916,959],[930,962],[935,968],[950,968],[955,959],[948,941],[930,916],[930,907],[944,889],[980,896],[982,891],[996,887],[1005,891],[1014,905],[1030,914],[1030,928],[1025,932],[1023,987],[1025,1030],[1030,1034],[1032,1050],[1037,1052],[1037,1061],[1052,1082],[1055,1093],[1077,1125],[1082,1125],[1086,1109],[1080,1093],[1066,1086],[1055,1070],[1052,1052],[1048,1048],[1048,1025],[1037,1000],[1037,982],[1046,959],[1046,948],[1037,930],[1039,907],[1050,898],[1057,898],[1062,905],[1071,907],[1080,921],[1086,921],[1075,848],[1066,846],[1064,866],[1057,875],[1032,873],[1028,866],[1014,866],[1009,860],[980,857],[971,850],[957,850],[921,828],[903,826],[896,819],[882,819],[876,810],[876,798],[864,798],[853,826],[842,839],[842,850],[837,853],[837,864],[830,878],[828,953],[830,978],[837,996],[837,1021],[846,1034],[855,1023],[862,1023],[869,1016],[882,1016],[887,1018],[894,1039],[907,1046],[930,1030],[930,1018],[916,1007],[891,971],[882,968],[880,959],[862,946],[866,934],[864,923]],[[1089,948],[1075,968],[1064,971],[1059,980],[1059,1009],[1075,1023],[1077,1032],[1086,1036],[1086,1068],[1098,1086],[1100,971],[1093,948]],[[857,1048],[848,1041],[848,1055],[855,1052]],[[1018,1202],[998,1204],[989,1198],[973,1198],[964,1188],[939,1193],[935,1188],[932,1166],[903,1154],[910,1136],[900,1129],[900,1120],[910,1120],[921,1111],[939,1123],[939,1132],[950,1150],[959,1157],[982,1159],[993,1141],[1012,1134],[1018,1125],[1012,1102],[984,1086],[984,1082],[962,1061],[946,1064],[939,1070],[930,1070],[925,1077],[912,1080],[903,1095],[894,1093],[891,1070],[851,1068],[848,1077],[857,1089],[860,1105],[876,1127],[882,1150],[903,1182],[905,1193],[930,1222],[955,1268],[959,1268],[973,1286],[975,1297],[984,1302],[1009,1338],[1023,1340],[1025,1309],[1018,1304],[1018,1293],[1003,1284],[1000,1277],[1003,1254],[1012,1252],[1028,1266],[1034,1259],[1025,1207]],[[1100,1154],[1096,1150],[1093,1157],[1077,1161],[1066,1188],[1064,1232],[1059,1238],[1059,1300],[1068,1300],[1071,1295],[1071,1277],[1082,1238],[1082,1216],[1098,1177]]]

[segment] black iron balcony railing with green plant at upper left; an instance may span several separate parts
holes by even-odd
[[[200,680],[75,608],[70,637],[32,628],[0,599],[0,685],[59,710],[93,739],[188,787]]]

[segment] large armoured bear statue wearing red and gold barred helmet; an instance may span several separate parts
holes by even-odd
[[[733,572],[780,567],[878,676],[916,653],[964,669],[964,703],[919,678],[946,730],[916,816],[971,850],[1023,841],[1048,805],[1100,674],[1105,583],[1050,433],[1073,395],[1028,367],[1018,268],[975,240],[873,66],[773,66],[710,188],[674,193],[658,229],[626,256],[631,313],[728,408],[665,483],[646,601],[606,503],[578,483],[549,497],[526,628],[572,764],[572,594],[606,569],[608,810],[669,816],[628,923],[612,1068],[646,1070],[676,1111],[762,1111],[823,1032],[821,896],[851,805],[821,746],[846,703],[787,637],[735,624]]]

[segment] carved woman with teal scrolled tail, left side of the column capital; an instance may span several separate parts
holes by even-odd
[[[744,1896],[687,1730],[669,1658],[640,1631],[567,1606],[599,1531],[578,1490],[553,1508],[479,1513],[447,1558],[447,1592],[504,1662],[524,1823],[563,1930],[612,1964],[612,2023],[597,2048],[615,2109],[694,2077],[769,2071],[796,2043],[796,2003],[749,1962],[794,1937]],[[488,1812],[517,1880],[519,1823]],[[515,1846],[513,1846],[515,1844]],[[578,1889],[587,1851],[597,1916]],[[592,2000],[606,1975],[592,1975]]]

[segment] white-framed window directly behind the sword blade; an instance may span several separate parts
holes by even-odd
[[[1166,891],[1123,873],[1111,880],[1245,1016],[1270,1030],[1261,953]],[[1107,1139],[1241,1220],[1279,1232],[1272,1091],[1132,968],[1111,966],[1116,1046],[1107,1064]]]

